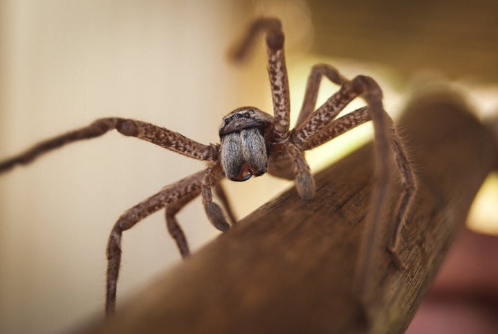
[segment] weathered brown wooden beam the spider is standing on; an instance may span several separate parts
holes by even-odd
[[[352,292],[374,186],[372,147],[261,206],[91,333],[403,333],[492,167],[490,133],[459,102],[418,100],[401,121],[418,174],[400,272],[374,250],[365,307]],[[394,187],[392,206],[396,203]],[[387,243],[387,232],[378,236]]]

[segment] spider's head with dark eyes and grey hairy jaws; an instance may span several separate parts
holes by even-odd
[[[268,170],[267,145],[273,117],[255,107],[241,107],[223,117],[219,129],[220,162],[226,177],[246,181]]]

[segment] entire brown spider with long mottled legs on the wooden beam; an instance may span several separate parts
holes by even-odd
[[[246,181],[252,175],[259,176],[268,172],[277,177],[295,179],[299,195],[303,200],[311,200],[315,193],[315,182],[304,159],[304,151],[320,146],[370,120],[374,124],[378,185],[371,200],[363,250],[358,258],[357,281],[360,285],[364,283],[370,250],[376,237],[376,227],[388,208],[387,188],[392,177],[391,156],[396,159],[403,190],[387,246],[393,262],[399,268],[403,267],[398,258],[398,236],[415,191],[415,182],[403,143],[396,134],[391,118],[382,107],[380,87],[374,79],[367,76],[356,76],[353,80],[347,80],[333,67],[317,64],[311,69],[297,123],[290,130],[284,34],[279,19],[256,19],[232,55],[235,59],[243,58],[261,31],[266,33],[273,116],[256,107],[234,109],[223,117],[221,122],[219,128],[221,144],[204,145],[157,125],[111,117],[100,118],[84,128],[42,141],[26,152],[0,163],[0,172],[5,172],[18,164],[28,164],[39,155],[67,143],[99,137],[113,129],[125,136],[143,139],[187,157],[207,162],[207,168],[204,170],[163,188],[124,212],[114,225],[107,245],[106,313],[108,315],[113,313],[116,306],[116,283],[120,269],[123,231],[130,229],[151,213],[164,208],[167,229],[176,241],[181,255],[188,256],[187,240],[176,222],[175,215],[194,197],[201,195],[210,222],[220,231],[226,231],[230,223],[234,223],[225,194],[219,186],[219,181],[223,177],[233,181]],[[323,76],[340,85],[340,89],[315,109],[317,92]],[[367,105],[336,119],[342,109],[358,96],[362,97]],[[226,214],[221,206],[213,202],[212,188],[219,194]]]

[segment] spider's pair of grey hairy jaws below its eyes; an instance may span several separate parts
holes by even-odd
[[[258,128],[246,128],[221,137],[220,160],[226,177],[246,181],[268,170],[264,137]]]

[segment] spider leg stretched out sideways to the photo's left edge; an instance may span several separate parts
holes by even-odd
[[[74,141],[100,137],[102,134],[113,129],[118,130],[118,132],[125,136],[149,141],[194,159],[214,161],[218,155],[218,146],[198,143],[192,139],[188,139],[182,134],[150,123],[127,118],[110,117],[100,118],[84,128],[66,132],[65,134],[42,141],[15,157],[1,161],[0,173],[5,172],[18,164],[29,164],[40,155],[43,155],[50,150],[54,150],[55,148],[59,148],[68,143],[73,143]]]

